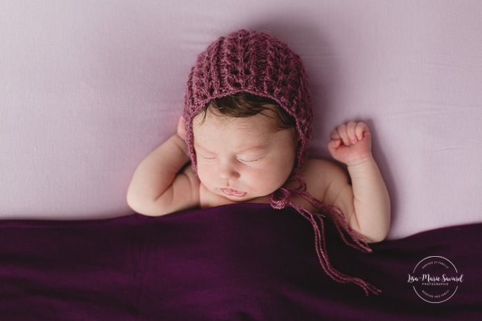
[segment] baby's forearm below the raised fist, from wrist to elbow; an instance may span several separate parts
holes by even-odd
[[[390,200],[385,182],[373,157],[348,166],[348,171],[359,233],[369,242],[379,242],[387,236],[390,225]]]

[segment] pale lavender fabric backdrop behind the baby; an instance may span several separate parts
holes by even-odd
[[[247,28],[305,62],[311,155],[328,156],[338,124],[367,121],[391,239],[481,222],[481,12],[478,0],[1,1],[0,218],[131,214],[130,179],[175,133],[196,56]]]

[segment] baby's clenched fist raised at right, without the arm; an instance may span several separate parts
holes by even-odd
[[[338,126],[330,134],[328,150],[331,157],[347,166],[372,157],[372,137],[368,126],[355,121]]]

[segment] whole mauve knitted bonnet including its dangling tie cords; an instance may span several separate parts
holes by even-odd
[[[307,158],[313,112],[307,75],[302,61],[289,47],[264,32],[239,30],[217,41],[202,52],[189,75],[184,99],[186,126],[186,144],[197,171],[196,155],[193,144],[193,118],[213,99],[234,95],[239,92],[267,97],[278,102],[280,107],[296,119],[296,130],[300,137],[296,163],[293,167],[292,182],[298,182],[298,188],[282,187],[273,192],[270,204],[273,208],[294,208],[313,226],[316,253],[322,269],[332,279],[341,283],[354,283],[368,293],[379,293],[372,284],[345,275],[331,266],[325,247],[325,225],[322,215],[308,211],[296,204],[292,196],[296,195],[309,202],[318,211],[336,215],[339,220],[338,232],[343,241],[364,252],[371,250],[366,242],[351,231],[345,215],[336,206],[323,204],[307,192],[305,179],[298,175]],[[344,228],[338,226],[342,222]],[[345,234],[349,235],[351,242]]]

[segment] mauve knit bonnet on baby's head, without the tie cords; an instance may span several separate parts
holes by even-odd
[[[184,98],[186,143],[193,168],[193,117],[212,99],[239,92],[268,97],[296,119],[300,146],[293,174],[307,158],[313,112],[302,61],[287,44],[264,32],[239,30],[202,52],[191,70]]]

